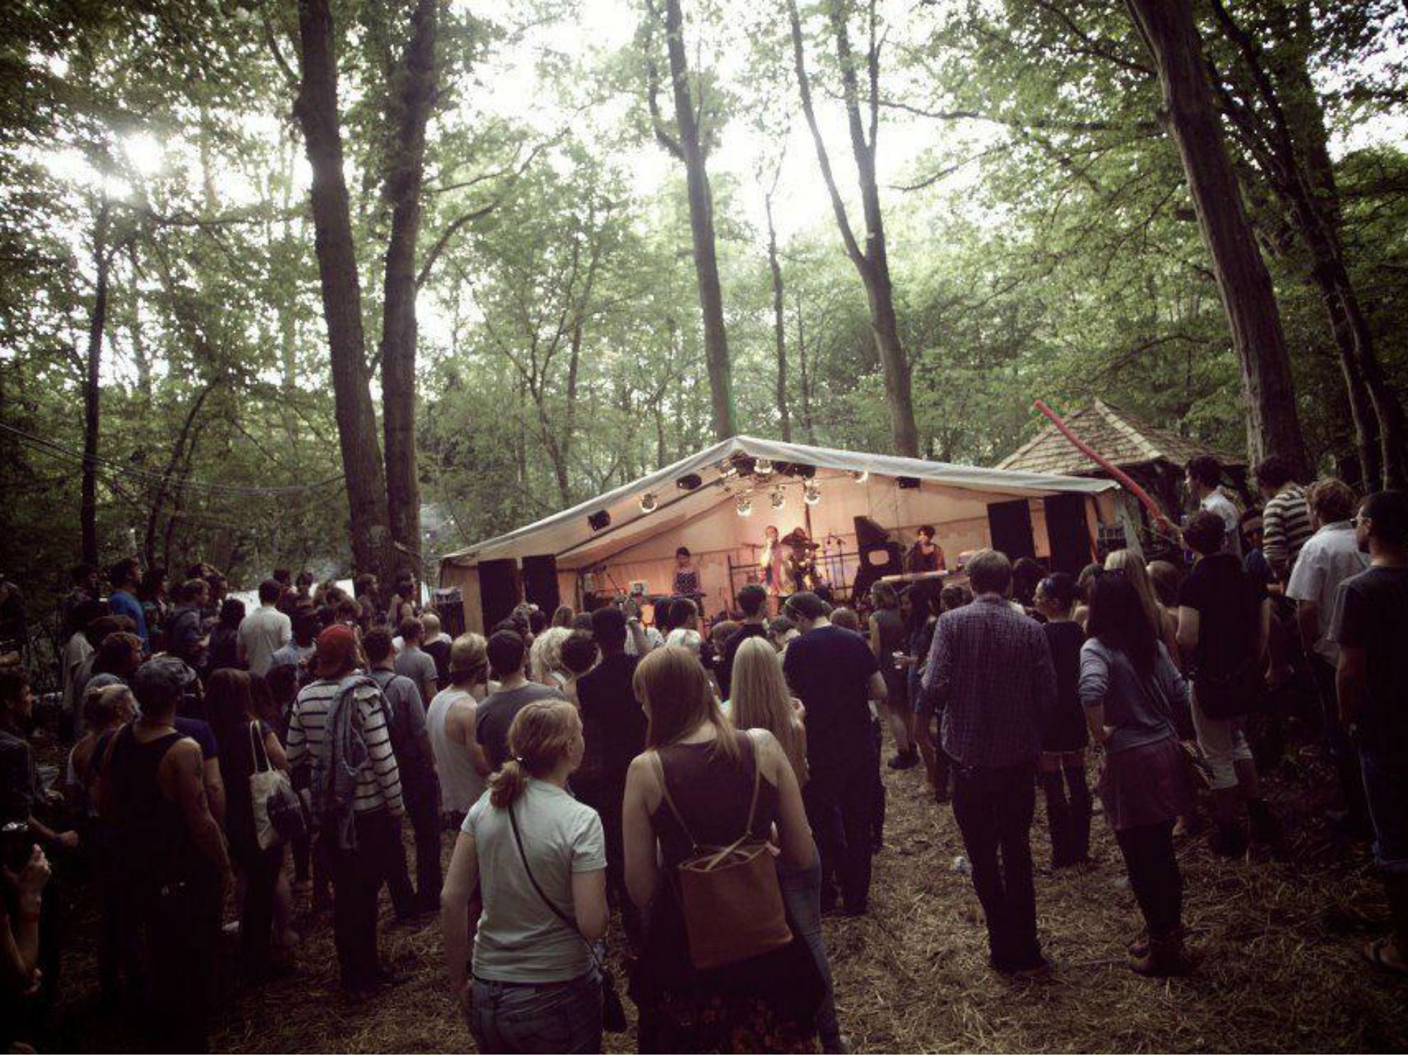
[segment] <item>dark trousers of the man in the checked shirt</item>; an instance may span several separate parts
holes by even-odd
[[[953,817],[963,834],[973,887],[987,918],[993,966],[1018,972],[1042,963],[1032,881],[1036,767],[953,767]]]

